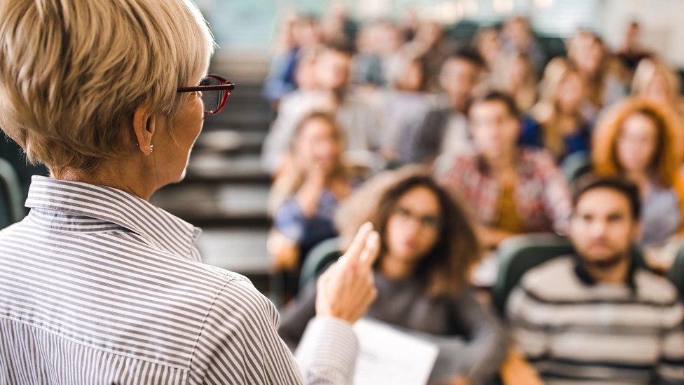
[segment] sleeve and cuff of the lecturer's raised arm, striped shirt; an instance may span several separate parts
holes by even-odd
[[[299,364],[278,336],[278,311],[246,278],[219,293],[191,366],[199,384],[351,384],[358,342],[351,326],[314,318]]]

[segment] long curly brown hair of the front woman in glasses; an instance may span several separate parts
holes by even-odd
[[[470,269],[479,259],[479,243],[462,205],[424,168],[407,166],[378,175],[348,198],[336,216],[343,243],[350,243],[362,223],[371,222],[381,234],[382,258],[388,248],[385,243],[388,221],[399,200],[417,187],[425,187],[435,194],[441,220],[437,242],[420,259],[414,273],[431,297],[458,295],[467,286]]]

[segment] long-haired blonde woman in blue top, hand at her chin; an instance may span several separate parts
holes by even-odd
[[[313,112],[297,126],[287,167],[268,201],[275,231],[269,249],[278,269],[296,271],[314,245],[337,236],[334,212],[353,184],[342,161],[343,148],[343,133],[329,114]],[[294,292],[296,274],[291,286]]]

